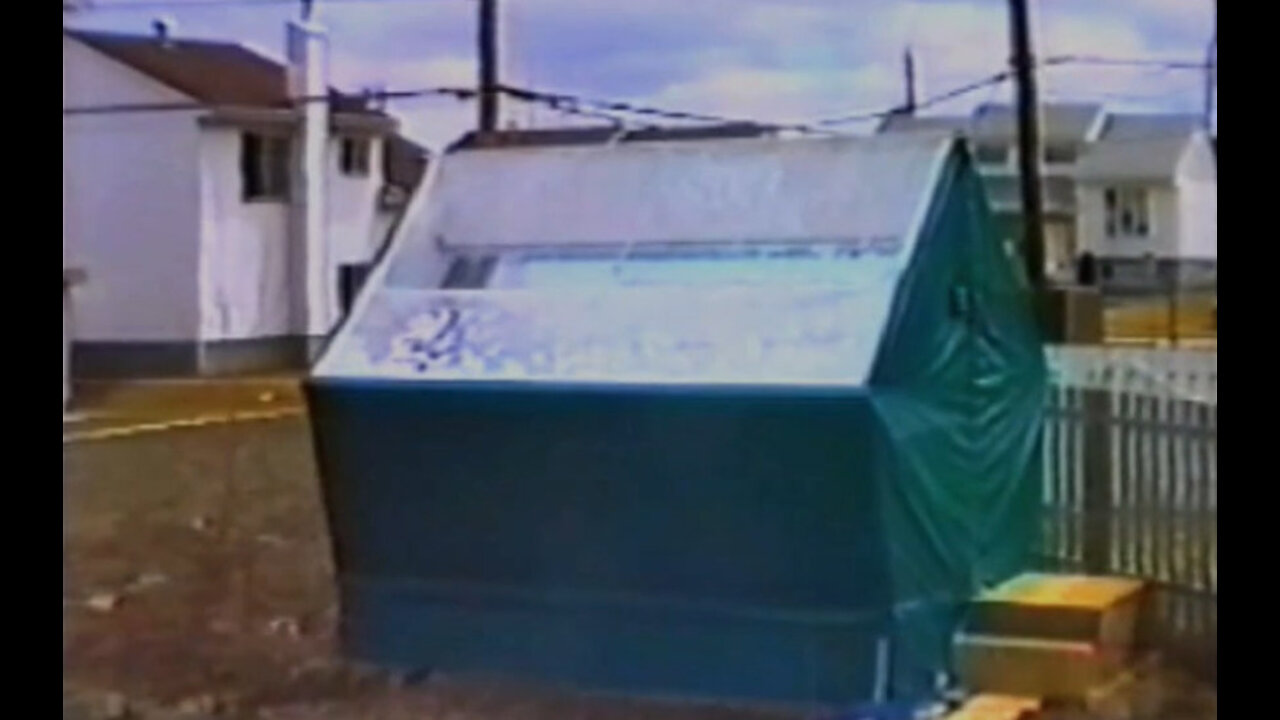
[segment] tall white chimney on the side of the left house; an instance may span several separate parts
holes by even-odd
[[[305,18],[287,27],[288,92],[298,114],[291,197],[292,311],[296,329],[323,338],[338,320],[338,273],[328,238],[329,38]]]

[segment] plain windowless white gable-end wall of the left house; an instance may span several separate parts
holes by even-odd
[[[64,108],[184,100],[63,37]],[[198,337],[198,145],[195,113],[63,117],[64,263],[92,278],[76,293],[77,342]]]

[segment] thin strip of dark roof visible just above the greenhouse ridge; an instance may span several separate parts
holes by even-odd
[[[630,129],[620,135],[612,127],[566,127],[520,131],[499,131],[488,135],[468,132],[453,143],[451,150],[479,150],[485,147],[554,147],[567,145],[603,145],[618,142],[658,142],[672,140],[730,140],[764,137],[769,128],[751,123],[731,123],[696,127],[662,127]]]

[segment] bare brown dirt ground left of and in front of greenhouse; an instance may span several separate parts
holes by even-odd
[[[342,664],[308,433],[293,416],[64,442],[65,717],[122,717],[124,705],[133,717],[279,720],[806,715],[406,683]]]

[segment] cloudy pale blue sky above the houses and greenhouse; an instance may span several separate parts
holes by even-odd
[[[283,56],[285,3],[93,0],[73,27],[236,40]],[[142,3],[129,8],[131,3]],[[186,5],[193,1],[195,4]],[[910,46],[927,99],[1007,67],[1005,0],[498,0],[507,85],[763,122],[809,122],[882,110],[904,97]],[[1215,0],[1032,0],[1036,53],[1202,61]],[[329,32],[330,73],[343,90],[474,86],[475,0],[315,0]],[[1075,65],[1039,73],[1043,100],[1116,110],[1202,113],[1204,73]],[[984,88],[931,108],[963,114],[1010,100]],[[1216,128],[1216,99],[1213,102]],[[388,108],[403,132],[439,149],[475,124],[474,104],[406,99]],[[504,101],[503,124],[575,122]],[[582,120],[576,120],[581,123]],[[868,126],[849,126],[868,131]]]

